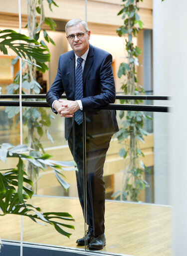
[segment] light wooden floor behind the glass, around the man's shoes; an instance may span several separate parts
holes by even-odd
[[[84,233],[78,199],[34,196],[31,203],[43,211],[67,211],[75,218],[70,239],[48,225],[23,218],[23,240],[65,247],[77,246]],[[153,204],[106,201],[105,227],[107,244],[102,251],[136,256],[171,256],[171,207]],[[69,231],[69,230],[67,230]],[[20,240],[20,216],[0,216],[0,237]]]

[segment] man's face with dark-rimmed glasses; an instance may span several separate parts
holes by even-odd
[[[75,26],[69,26],[67,28],[67,36],[75,35],[77,33],[84,33],[86,32],[86,28],[81,24],[78,23]],[[86,32],[82,38],[78,38],[75,36],[74,40],[69,40],[68,42],[71,48],[74,50],[77,56],[82,56],[89,47],[89,39],[90,39],[90,31]]]

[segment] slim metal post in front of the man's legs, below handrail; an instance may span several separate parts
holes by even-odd
[[[85,250],[87,250],[87,172],[86,172],[86,114],[83,113],[82,125],[82,142],[83,142],[83,176],[84,176],[84,233],[85,233]]]

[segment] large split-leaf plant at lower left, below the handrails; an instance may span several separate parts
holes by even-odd
[[[50,160],[51,155],[49,154],[42,155],[38,153],[37,156],[30,156],[25,154],[28,151],[27,145],[14,147],[9,143],[3,143],[0,146],[0,161],[6,161],[7,157],[16,157],[18,159],[16,168],[0,169],[0,216],[17,214],[28,216],[35,222],[42,220],[53,225],[59,233],[69,237],[71,233],[62,228],[74,229],[73,225],[64,223],[64,220],[74,220],[68,212],[42,212],[39,207],[29,203],[33,191],[27,187],[27,184],[32,186],[32,180],[27,178],[24,171],[24,162],[29,161],[42,170],[50,167],[54,170],[55,175],[58,176],[63,176],[61,170],[75,170],[75,162]],[[65,181],[63,182],[66,189],[68,184]]]

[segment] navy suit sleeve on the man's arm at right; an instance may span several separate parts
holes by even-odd
[[[81,98],[83,111],[88,111],[99,106],[114,103],[116,90],[114,74],[112,70],[111,54],[107,53],[101,63],[99,70],[99,80],[90,82],[95,82],[94,86],[100,86],[100,93]],[[89,87],[89,81],[87,81],[86,86]]]

